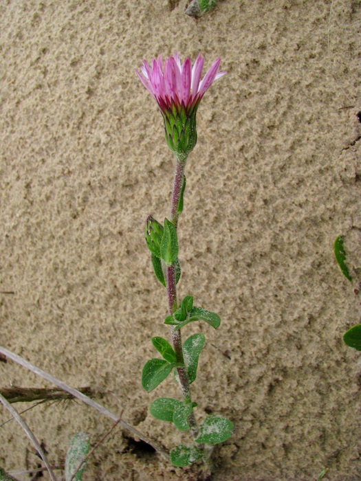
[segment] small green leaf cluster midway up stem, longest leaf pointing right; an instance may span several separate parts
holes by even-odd
[[[177,331],[194,321],[205,321],[215,329],[221,324],[221,318],[216,313],[206,311],[202,307],[193,307],[193,297],[191,295],[186,295],[179,309],[173,315],[168,315],[164,320],[164,324],[175,326],[175,331]]]

